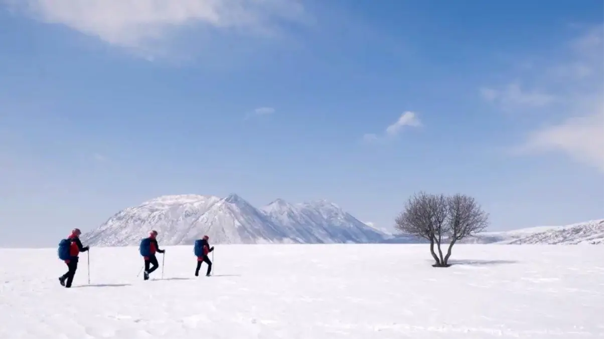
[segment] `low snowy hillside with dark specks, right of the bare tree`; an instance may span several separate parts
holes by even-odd
[[[483,232],[465,239],[474,244],[604,244],[604,219],[566,226],[542,226],[503,232]]]

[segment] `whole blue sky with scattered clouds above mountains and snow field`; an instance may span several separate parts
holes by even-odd
[[[0,246],[167,194],[604,218],[604,3],[0,0]]]

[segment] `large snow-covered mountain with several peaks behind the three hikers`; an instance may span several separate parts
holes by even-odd
[[[236,194],[167,195],[129,207],[83,234],[93,246],[138,245],[150,230],[160,245],[193,244],[204,234],[213,244],[381,242],[385,234],[327,201],[289,204],[277,199],[262,209]]]

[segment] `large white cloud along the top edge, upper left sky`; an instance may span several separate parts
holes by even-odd
[[[274,33],[303,22],[300,0],[0,0],[48,24],[62,24],[111,45],[149,50],[196,25],[239,33]],[[197,42],[199,44],[199,40]]]

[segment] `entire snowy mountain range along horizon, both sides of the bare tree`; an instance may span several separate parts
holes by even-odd
[[[256,208],[241,196],[164,195],[127,207],[82,235],[93,246],[138,245],[152,229],[163,245],[192,244],[207,234],[214,244],[422,244],[359,221],[339,205],[320,199],[290,203],[278,198]],[[562,226],[485,231],[461,244],[604,245],[604,219]]]

